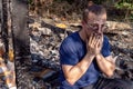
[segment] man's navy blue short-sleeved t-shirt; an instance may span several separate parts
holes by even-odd
[[[86,53],[85,42],[80,38],[79,32],[73,32],[66,37],[60,47],[60,63],[75,66],[80,62]],[[109,39],[104,36],[103,47],[101,50],[103,57],[110,56]],[[75,73],[76,75],[76,73]],[[93,60],[86,72],[71,86],[64,78],[63,71],[60,72],[61,89],[79,89],[98,81],[101,71]]]

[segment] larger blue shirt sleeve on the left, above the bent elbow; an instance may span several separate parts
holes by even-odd
[[[61,65],[74,66],[79,62],[76,44],[72,39],[62,42],[59,53]]]

